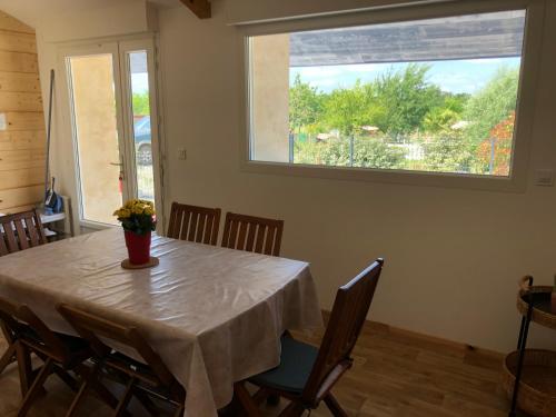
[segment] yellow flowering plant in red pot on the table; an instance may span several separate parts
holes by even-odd
[[[157,225],[155,207],[151,201],[129,200],[113,212],[121,222],[129,262],[148,264],[150,260],[150,238]]]

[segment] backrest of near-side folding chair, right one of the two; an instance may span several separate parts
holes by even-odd
[[[162,359],[152,350],[136,327],[116,322],[64,304],[58,305],[57,309],[79,336],[89,341],[91,349],[100,358],[107,357],[112,351],[101,338],[113,340],[135,349],[165,385],[173,386],[177,383]]]

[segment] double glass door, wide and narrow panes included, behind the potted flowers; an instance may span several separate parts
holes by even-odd
[[[117,224],[113,210],[131,198],[162,207],[153,53],[150,39],[64,53],[85,226]]]

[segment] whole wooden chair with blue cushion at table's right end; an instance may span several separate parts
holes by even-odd
[[[338,289],[319,349],[285,335],[280,365],[249,378],[260,387],[259,391],[251,397],[244,383],[235,385],[237,399],[249,417],[259,416],[258,405],[268,395],[279,395],[291,401],[280,414],[282,417],[301,416],[305,410],[317,408],[321,400],[334,416],[347,416],[330,389],[351,367],[351,350],[365,324],[383,264],[383,259],[377,259]]]

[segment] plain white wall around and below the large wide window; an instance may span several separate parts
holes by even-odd
[[[311,262],[324,307],[383,256],[373,319],[513,349],[517,279],[533,274],[550,284],[556,272],[556,191],[535,187],[532,177],[535,168],[556,168],[556,24],[546,26],[527,191],[486,192],[241,172],[244,75],[239,34],[226,26],[231,3],[214,4],[207,21],[185,8],[159,14],[167,201],[285,219],[282,254]],[[181,147],[187,161],[177,159]]]

